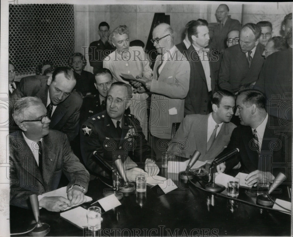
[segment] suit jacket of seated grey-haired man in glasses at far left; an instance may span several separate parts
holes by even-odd
[[[42,175],[22,133],[10,134],[9,140],[11,205],[28,208],[31,194],[57,189],[62,171],[69,180],[67,188],[74,184],[88,188],[89,173],[73,154],[64,133],[50,130],[43,137]]]

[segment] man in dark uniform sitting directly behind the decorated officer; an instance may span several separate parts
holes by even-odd
[[[95,87],[98,90],[96,94],[84,97],[80,110],[80,124],[89,117],[102,112],[106,109],[108,91],[113,82],[113,76],[109,69],[102,68],[95,74]]]

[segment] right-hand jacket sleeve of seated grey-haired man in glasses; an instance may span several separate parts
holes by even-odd
[[[67,189],[74,184],[81,185],[82,187],[88,189],[88,182],[90,178],[88,171],[80,163],[79,158],[73,154],[65,134],[63,135],[61,141],[63,146],[62,169],[69,180]]]

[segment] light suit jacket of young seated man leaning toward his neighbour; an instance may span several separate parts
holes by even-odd
[[[229,144],[232,131],[236,127],[233,123],[224,123],[214,140],[212,146],[207,151],[207,120],[208,115],[186,115],[183,122],[180,124],[175,137],[169,143],[168,151],[178,151],[180,156],[191,158],[194,151],[197,150],[201,153],[199,161],[211,160],[219,155],[224,148]],[[188,141],[186,141],[186,140]],[[178,142],[183,142],[186,146],[178,148]]]

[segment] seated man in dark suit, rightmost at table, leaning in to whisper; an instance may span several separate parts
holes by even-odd
[[[259,178],[272,181],[279,172],[291,178],[292,134],[280,127],[280,120],[265,111],[263,93],[243,90],[239,92],[236,106],[241,125],[233,130],[227,148],[218,157],[235,148],[240,151],[219,164],[218,172],[240,166],[241,172],[248,174],[245,180],[249,186],[256,185]]]

